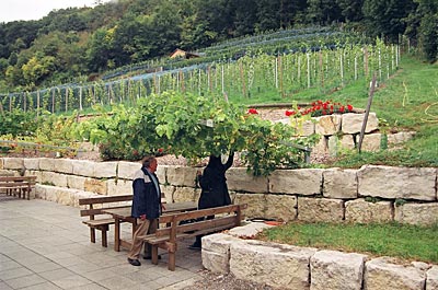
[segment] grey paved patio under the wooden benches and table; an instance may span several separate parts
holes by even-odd
[[[165,253],[159,265],[141,259],[134,267],[126,250],[113,250],[113,228],[105,248],[100,232],[90,243],[81,221],[79,208],[0,195],[0,289],[175,290],[200,278],[200,252],[187,248],[191,240],[178,244],[175,271],[168,270]],[[130,235],[127,224],[123,234]]]

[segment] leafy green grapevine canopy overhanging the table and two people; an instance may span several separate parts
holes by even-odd
[[[78,124],[76,132],[99,144],[104,160],[174,154],[195,164],[235,151],[254,175],[302,165],[304,153],[291,143],[311,147],[318,137],[297,138],[293,127],[255,113],[221,96],[166,91],[138,98],[135,106],[117,105],[111,114]]]

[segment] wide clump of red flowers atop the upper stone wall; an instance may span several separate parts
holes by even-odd
[[[296,109],[287,109],[285,112],[286,116],[288,117],[296,117],[296,116],[303,116],[310,115],[311,117],[319,117],[324,115],[332,115],[332,114],[344,114],[348,112],[353,112],[353,106],[350,104],[343,105],[338,102],[325,101],[322,102],[321,100],[311,103],[311,107],[301,108],[297,106]]]

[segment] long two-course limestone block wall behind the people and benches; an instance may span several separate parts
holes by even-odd
[[[93,195],[131,194],[136,162],[92,162],[71,159],[1,158],[0,170],[37,176],[35,198],[78,206]],[[168,202],[199,197],[198,169],[159,166],[158,176]],[[245,216],[275,220],[438,222],[436,167],[366,165],[359,170],[281,170],[254,177],[243,167],[227,172],[234,202],[247,204]]]

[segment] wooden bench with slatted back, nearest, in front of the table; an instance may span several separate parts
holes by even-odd
[[[178,240],[239,227],[243,219],[242,210],[245,208],[246,205],[231,205],[161,216],[160,224],[168,227],[160,228],[155,233],[143,237],[145,243],[152,245],[152,264],[158,264],[158,248],[160,247],[169,253],[168,268],[175,270],[175,253]],[[211,219],[211,216],[215,217]],[[207,219],[207,217],[210,217],[210,219]]]

